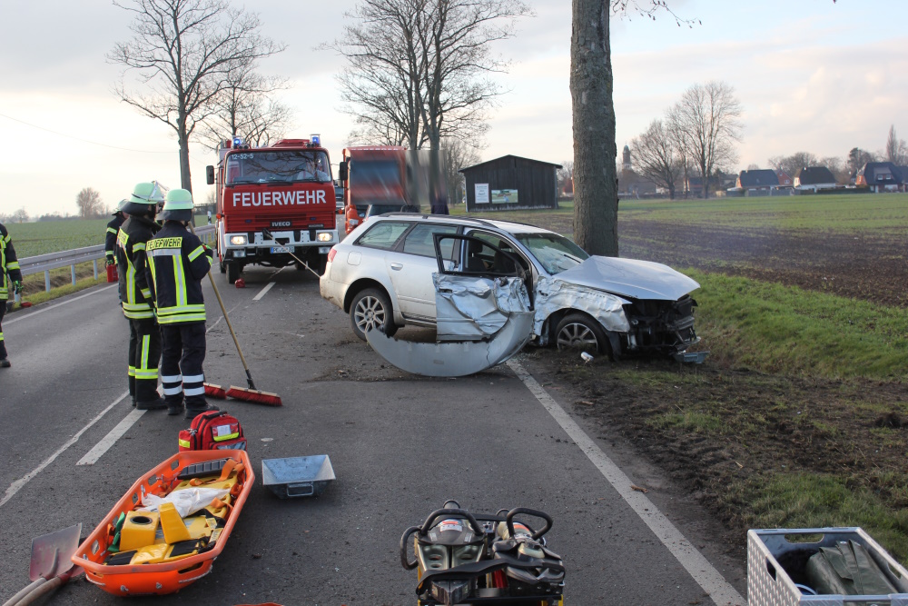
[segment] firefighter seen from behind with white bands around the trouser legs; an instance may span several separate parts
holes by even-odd
[[[158,214],[163,228],[146,245],[148,283],[161,325],[161,383],[167,414],[194,419],[216,406],[205,400],[205,301],[202,278],[211,271],[214,253],[186,229],[192,221],[192,194],[173,189]]]

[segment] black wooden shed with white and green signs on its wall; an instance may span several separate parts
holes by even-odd
[[[461,168],[467,183],[467,212],[558,208],[561,164],[504,155]]]

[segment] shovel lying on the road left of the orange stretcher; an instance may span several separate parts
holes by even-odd
[[[25,606],[49,595],[74,574],[73,554],[79,548],[82,524],[76,524],[62,531],[51,532],[32,539],[32,561],[28,566],[28,578],[34,581],[24,590],[4,602],[3,606]]]

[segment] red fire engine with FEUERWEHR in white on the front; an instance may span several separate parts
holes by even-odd
[[[319,135],[270,147],[235,137],[218,149],[217,169],[207,169],[208,184],[217,185],[217,248],[229,283],[250,263],[294,263],[290,253],[324,271],[340,240],[331,161]]]

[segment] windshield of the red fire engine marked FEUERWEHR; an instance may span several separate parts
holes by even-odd
[[[305,150],[244,150],[227,156],[226,184],[331,182],[328,154]]]

